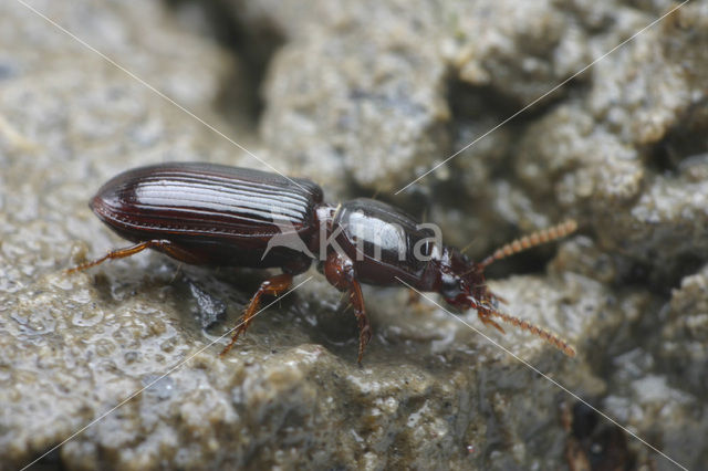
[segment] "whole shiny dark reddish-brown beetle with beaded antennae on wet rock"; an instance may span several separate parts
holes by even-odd
[[[497,321],[575,355],[556,334],[500,311],[503,300],[485,281],[485,269],[493,261],[572,233],[576,229],[572,220],[516,240],[473,262],[391,205],[357,198],[335,207],[324,202],[322,189],[306,179],[201,163],[127,170],[108,180],[90,207],[134,245],[67,272],[145,249],[189,264],[281,269],[282,273],[261,283],[221,355],[248,329],[262,296],[284,293],[293,276],[305,272],[313,259],[319,259],[317,268],[330,284],[348,293],[358,324],[360,365],[372,337],[362,283],[407,284],[420,292],[437,292],[458,310],[477,310],[483,324],[502,333]]]

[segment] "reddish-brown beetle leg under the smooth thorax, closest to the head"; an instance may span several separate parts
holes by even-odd
[[[330,284],[340,291],[350,292],[350,302],[354,307],[354,315],[358,323],[358,365],[362,365],[364,349],[372,339],[372,327],[366,316],[364,307],[364,295],[362,286],[356,281],[356,272],[354,271],[354,262],[348,257],[332,252],[324,262],[324,275]]]

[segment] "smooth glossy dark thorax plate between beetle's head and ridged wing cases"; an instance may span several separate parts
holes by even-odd
[[[430,260],[437,258],[436,233],[402,210],[358,198],[337,210],[336,241],[354,261],[357,279],[377,285],[400,284],[395,276],[418,284]]]

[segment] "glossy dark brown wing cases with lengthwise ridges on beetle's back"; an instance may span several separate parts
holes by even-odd
[[[106,182],[94,212],[128,239],[268,238],[314,230],[322,189],[247,168],[177,163],[136,168]]]

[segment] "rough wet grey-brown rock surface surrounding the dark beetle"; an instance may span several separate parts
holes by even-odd
[[[262,272],[142,254],[63,274],[124,244],[86,207],[118,171],[166,160],[269,168],[9,1],[0,469],[70,437],[39,464],[675,469],[577,397],[680,464],[708,462],[706,4],[539,103],[673,3],[31,6],[278,170],[322,184],[331,201],[378,192],[438,222],[450,243],[472,241],[477,258],[576,218],[580,234],[499,263],[491,284],[577,356],[492,332],[473,312],[455,318],[407,304],[404,290],[366,287],[375,336],[360,368],[355,321],[313,270],[219,358],[225,341],[212,343]]]

